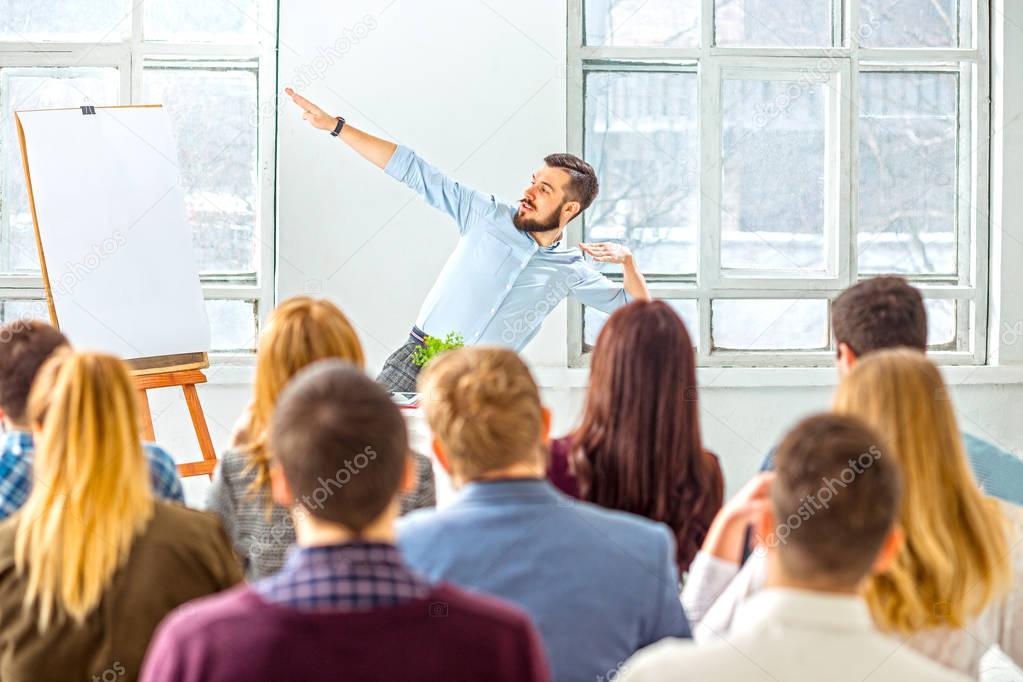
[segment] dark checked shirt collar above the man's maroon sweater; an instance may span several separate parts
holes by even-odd
[[[295,547],[280,573],[253,589],[266,601],[313,611],[358,611],[419,599],[432,587],[394,545],[353,542]]]

